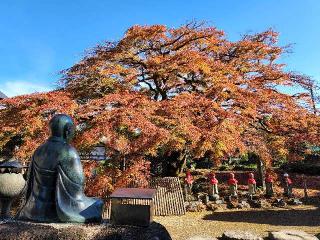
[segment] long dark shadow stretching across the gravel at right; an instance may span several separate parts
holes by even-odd
[[[320,209],[290,210],[247,210],[214,212],[203,217],[204,220],[224,222],[247,222],[274,226],[319,226]]]

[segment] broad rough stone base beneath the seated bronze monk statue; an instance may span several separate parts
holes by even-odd
[[[103,224],[0,222],[2,240],[171,240],[164,226],[151,223],[149,227],[113,226]]]

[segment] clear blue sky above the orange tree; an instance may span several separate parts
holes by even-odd
[[[178,27],[192,19],[231,40],[272,27],[281,45],[294,44],[282,59],[287,69],[320,81],[319,0],[1,0],[0,91],[48,91],[86,49],[120,39],[132,25]]]

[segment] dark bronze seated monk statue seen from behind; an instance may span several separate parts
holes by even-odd
[[[20,220],[37,222],[99,222],[103,202],[83,193],[84,175],[77,150],[69,142],[74,123],[68,115],[50,120],[51,137],[34,152]]]

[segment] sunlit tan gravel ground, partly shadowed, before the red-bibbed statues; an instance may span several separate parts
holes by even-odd
[[[218,237],[226,230],[249,230],[263,237],[270,231],[283,229],[320,233],[320,209],[315,206],[188,212],[184,216],[155,217],[154,220],[167,228],[173,240]]]

